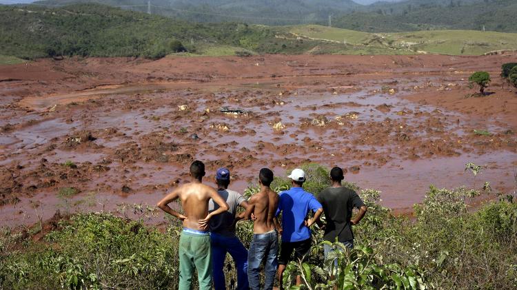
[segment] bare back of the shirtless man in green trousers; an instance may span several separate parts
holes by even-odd
[[[211,198],[211,192],[213,191],[213,194],[215,190],[202,183],[187,183],[182,185],[178,191],[183,211],[187,217],[183,220],[183,227],[204,231],[199,227],[199,220],[207,216],[208,201]]]

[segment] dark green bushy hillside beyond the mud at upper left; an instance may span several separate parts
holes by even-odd
[[[256,49],[259,41],[274,38],[274,31],[263,26],[187,23],[97,4],[0,6],[0,27],[0,54],[23,59],[60,55],[159,58],[182,50],[203,53],[219,45]],[[261,48],[267,52],[267,45]]]

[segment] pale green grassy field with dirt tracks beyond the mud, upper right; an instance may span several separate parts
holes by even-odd
[[[517,34],[504,32],[425,30],[373,34],[321,25],[287,26],[285,32],[292,34],[293,37],[341,44],[343,47],[341,51],[330,53],[407,54],[427,52],[479,55],[494,50],[517,49]]]

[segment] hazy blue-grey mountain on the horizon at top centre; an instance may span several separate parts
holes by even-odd
[[[46,0],[37,3],[62,5],[95,0]],[[139,12],[148,11],[148,0],[104,0],[105,5]],[[352,0],[151,0],[153,14],[196,22],[241,21],[266,25],[316,23],[361,9]]]

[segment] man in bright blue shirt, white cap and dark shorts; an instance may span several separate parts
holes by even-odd
[[[323,207],[318,200],[302,188],[305,172],[302,169],[294,169],[287,177],[291,178],[292,187],[280,193],[276,210],[276,216],[282,212],[282,244],[278,259],[278,280],[281,289],[285,265],[293,258],[298,261],[307,257],[311,247],[310,226],[314,225],[323,213]],[[310,211],[314,211],[314,218],[306,220]],[[301,278],[297,276],[296,285],[299,284]]]

